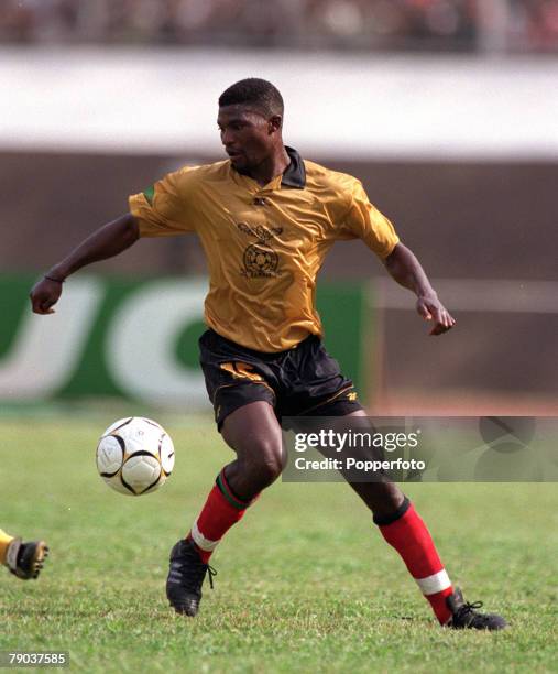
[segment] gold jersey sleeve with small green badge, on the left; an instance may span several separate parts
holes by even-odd
[[[139,222],[141,237],[172,237],[195,230],[189,213],[194,174],[195,167],[186,166],[129,197],[130,213]]]

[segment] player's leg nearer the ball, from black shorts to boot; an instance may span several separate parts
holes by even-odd
[[[270,363],[212,330],[199,341],[215,418],[237,458],[216,482],[185,539],[171,552],[166,594],[178,613],[195,616],[209,558],[258,493],[281,472],[281,430],[273,412],[276,381]]]

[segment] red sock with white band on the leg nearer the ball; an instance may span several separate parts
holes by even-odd
[[[207,564],[217,544],[229,529],[242,519],[252,501],[241,501],[231,490],[225,469],[217,476],[216,483],[187,539],[192,539]]]

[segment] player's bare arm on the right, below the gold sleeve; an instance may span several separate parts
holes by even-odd
[[[403,243],[397,243],[384,260],[385,269],[400,285],[417,296],[416,308],[425,320],[433,320],[430,335],[442,335],[453,327],[456,320],[438,300],[420,262]]]

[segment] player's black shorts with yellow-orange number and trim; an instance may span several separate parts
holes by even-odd
[[[350,379],[310,335],[296,347],[262,354],[242,347],[215,330],[199,338],[200,363],[219,430],[226,416],[258,400],[283,416],[344,416],[362,405]]]

